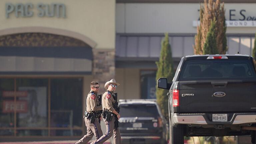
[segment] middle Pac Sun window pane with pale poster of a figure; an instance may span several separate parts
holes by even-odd
[[[17,102],[25,110],[17,113],[18,136],[47,136],[48,130],[48,79],[17,79]],[[29,129],[31,128],[31,129]],[[35,129],[36,128],[36,129]]]

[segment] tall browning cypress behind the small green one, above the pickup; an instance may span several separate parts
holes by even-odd
[[[207,3],[208,1],[208,3]],[[214,20],[215,19],[215,20]],[[200,26],[197,27],[195,35],[194,54],[203,54],[204,45],[208,32],[210,31],[212,20],[215,23],[215,41],[217,54],[226,54],[227,38],[224,3],[220,5],[220,0],[204,0],[204,7],[200,6]]]

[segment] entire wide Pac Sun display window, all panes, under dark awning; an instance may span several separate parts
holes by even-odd
[[[81,136],[82,78],[0,78],[0,136]]]

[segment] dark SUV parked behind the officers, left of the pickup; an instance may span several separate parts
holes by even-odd
[[[155,100],[119,100],[122,144],[164,144],[167,123]]]

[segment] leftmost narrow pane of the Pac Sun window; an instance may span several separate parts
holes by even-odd
[[[0,78],[0,135],[14,135],[14,79]]]

